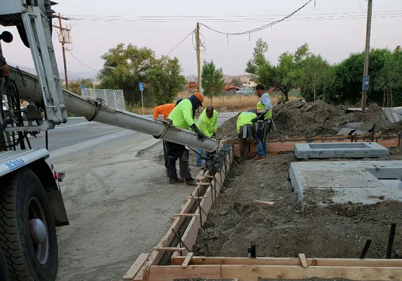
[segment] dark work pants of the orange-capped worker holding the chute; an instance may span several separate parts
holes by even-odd
[[[165,142],[167,150],[167,176],[169,179],[177,179],[176,161],[179,160],[180,177],[190,179],[191,174],[188,170],[188,150],[183,145]]]

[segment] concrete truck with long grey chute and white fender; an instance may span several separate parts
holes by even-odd
[[[58,268],[56,227],[68,225],[59,182],[47,149],[32,148],[28,135],[66,123],[67,112],[166,141],[213,152],[219,141],[200,142],[191,131],[108,107],[61,88],[52,44],[50,0],[1,0],[0,25],[16,27],[30,49],[36,75],[7,64],[0,33],[0,280],[53,281]],[[10,54],[13,55],[13,54]],[[16,54],[14,54],[16,55]],[[21,108],[20,100],[28,102]],[[90,165],[90,164],[89,164]]]

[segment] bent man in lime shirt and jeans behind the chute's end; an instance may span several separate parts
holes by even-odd
[[[218,112],[212,105],[207,106],[207,108],[199,115],[197,125],[206,136],[215,136],[218,128]],[[211,155],[198,149],[197,154],[195,155],[195,166],[202,167],[203,158],[205,158],[205,166],[211,164]]]

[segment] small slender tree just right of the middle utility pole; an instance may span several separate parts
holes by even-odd
[[[209,97],[212,104],[212,98],[219,96],[225,86],[222,68],[217,69],[214,61],[204,60],[201,73],[201,84],[204,89],[204,95]]]

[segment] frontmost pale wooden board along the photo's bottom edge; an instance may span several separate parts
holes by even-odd
[[[346,278],[351,280],[402,280],[402,267],[295,265],[180,265],[152,266],[149,281],[176,278],[237,278],[242,281],[302,278]]]

